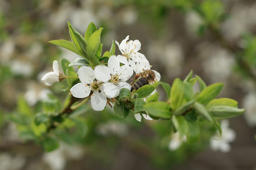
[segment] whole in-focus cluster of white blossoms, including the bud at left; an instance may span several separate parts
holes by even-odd
[[[109,57],[108,66],[98,65],[94,70],[89,66],[81,66],[77,71],[81,83],[75,84],[70,91],[77,98],[90,96],[95,111],[102,111],[107,99],[117,97],[122,88],[131,90],[131,84],[126,81],[131,78],[134,71],[139,74],[143,70],[150,70],[150,63],[144,54],[138,52],[141,49],[141,42],[127,40],[129,36],[120,44],[115,41],[122,55]],[[152,71],[155,73],[155,81],[159,81],[160,74],[155,70]],[[53,71],[44,75],[42,80],[47,86],[60,81],[57,61],[53,61]]]

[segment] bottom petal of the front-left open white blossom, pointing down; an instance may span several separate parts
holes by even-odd
[[[102,93],[98,93],[97,91],[93,93],[90,97],[90,104],[94,111],[102,111],[107,103],[106,96]]]

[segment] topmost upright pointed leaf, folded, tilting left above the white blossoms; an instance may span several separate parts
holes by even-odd
[[[76,49],[83,54],[83,57],[86,56],[86,41],[84,37],[80,35],[79,32],[76,31],[75,28],[68,22],[69,35],[74,42]]]

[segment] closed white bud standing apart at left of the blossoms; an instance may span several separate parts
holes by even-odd
[[[59,82],[59,64],[56,60],[52,63],[52,69],[53,71],[46,73],[42,78],[47,86],[51,86],[52,84]]]

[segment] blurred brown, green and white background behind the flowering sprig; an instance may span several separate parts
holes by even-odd
[[[59,85],[40,79],[53,60],[79,57],[48,43],[71,41],[67,20],[81,35],[90,22],[103,27],[103,51],[127,35],[141,41],[140,52],[163,82],[184,79],[190,70],[207,85],[224,82],[220,97],[246,108],[230,119],[236,132],[231,151],[211,150],[212,134],[171,150],[167,122],[121,120],[88,107],[80,113],[84,136],[60,131],[55,151],[44,152],[31,134],[19,133],[26,124],[13,115],[24,111],[21,103],[36,114],[47,94],[64,100]],[[256,169],[255,33],[253,0],[0,0],[0,169]]]

